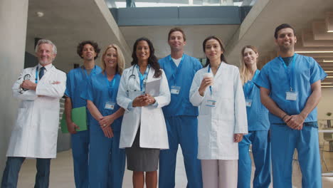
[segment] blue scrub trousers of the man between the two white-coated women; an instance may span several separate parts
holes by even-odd
[[[198,155],[198,119],[196,116],[166,117],[169,150],[159,154],[159,188],[175,187],[176,155],[178,145],[184,155],[187,187],[202,187],[201,163]]]

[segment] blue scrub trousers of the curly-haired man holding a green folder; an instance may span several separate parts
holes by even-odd
[[[71,135],[76,188],[88,188],[89,130]]]

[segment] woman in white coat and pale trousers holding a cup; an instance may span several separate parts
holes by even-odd
[[[245,98],[236,66],[226,63],[221,39],[203,41],[205,68],[194,75],[190,101],[199,108],[198,159],[203,187],[237,187],[238,142],[248,132]]]

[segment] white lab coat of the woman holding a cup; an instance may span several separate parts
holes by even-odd
[[[190,90],[190,102],[200,106],[198,159],[238,160],[238,143],[233,141],[233,135],[248,133],[238,68],[222,62],[214,76],[212,95],[208,87],[202,97],[199,87],[205,73],[208,73],[208,66],[196,72]],[[209,99],[216,100],[215,107],[206,106]]]

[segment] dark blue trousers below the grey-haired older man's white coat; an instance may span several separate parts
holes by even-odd
[[[1,188],[17,187],[18,172],[20,172],[24,160],[26,160],[26,157],[7,157]],[[36,160],[37,174],[35,188],[48,188],[51,159],[37,158]]]

